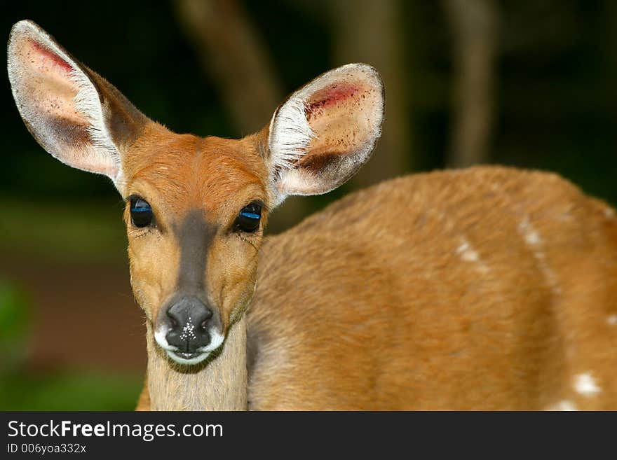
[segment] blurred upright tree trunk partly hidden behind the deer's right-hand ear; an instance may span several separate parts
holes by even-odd
[[[412,167],[402,12],[398,0],[332,0],[327,4],[333,13],[334,64],[371,64],[386,87],[383,134],[372,160],[352,179],[353,186],[364,187]]]

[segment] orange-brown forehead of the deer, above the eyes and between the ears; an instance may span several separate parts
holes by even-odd
[[[245,200],[266,202],[264,162],[242,142],[177,136],[138,146],[141,152],[126,165],[126,193],[180,216],[193,209],[216,215]]]

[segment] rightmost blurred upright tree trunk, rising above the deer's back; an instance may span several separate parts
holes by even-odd
[[[494,123],[497,7],[493,0],[444,0],[452,27],[454,107],[446,164],[487,162]]]

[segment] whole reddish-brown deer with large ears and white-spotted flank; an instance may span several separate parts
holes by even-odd
[[[137,410],[617,409],[616,213],[557,174],[402,176],[264,237],[285,197],[369,160],[369,65],[318,76],[239,140],[170,132],[31,21],[8,76],[39,144],[126,203]]]

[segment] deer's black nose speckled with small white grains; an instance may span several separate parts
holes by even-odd
[[[212,309],[196,297],[183,297],[167,310],[168,344],[184,353],[196,353],[210,343]]]

